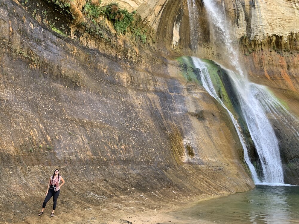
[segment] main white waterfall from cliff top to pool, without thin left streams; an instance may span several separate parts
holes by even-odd
[[[219,34],[219,40],[221,40],[226,47],[231,59],[231,64],[236,68],[237,73],[239,73],[239,75],[237,75],[231,70],[226,70],[232,81],[235,93],[237,94],[243,118],[245,119],[251,138],[257,149],[264,176],[262,182],[283,184],[283,169],[278,140],[266,116],[266,109],[269,110],[269,108],[273,108],[274,101],[268,101],[268,104],[263,102],[263,97],[268,94],[267,90],[260,85],[249,82],[247,78],[244,77],[239,64],[237,51],[233,47],[225,13],[221,12],[221,8],[218,7],[215,0],[203,1],[210,16],[210,21],[214,25],[214,30]],[[251,167],[249,164],[248,166],[249,168]],[[253,171],[251,170],[251,172]],[[259,181],[256,180],[254,180],[254,182],[256,184],[259,183]]]

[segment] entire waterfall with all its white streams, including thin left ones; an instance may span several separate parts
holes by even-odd
[[[258,177],[257,171],[248,155],[247,147],[241,133],[240,125],[233,113],[229,111],[224,101],[219,98],[212,83],[208,72],[207,64],[202,60],[192,57],[193,65],[198,69],[199,76],[203,87],[228,111],[229,116],[238,133],[240,142],[244,150],[244,159],[247,163],[253,180],[256,184],[284,184],[283,168],[280,159],[280,151],[278,140],[275,136],[274,129],[267,115],[286,117],[288,111],[280,104],[280,102],[272,96],[272,94],[262,85],[257,85],[248,81],[244,76],[239,63],[238,52],[234,49],[234,43],[230,35],[230,26],[225,19],[225,9],[222,4],[218,5],[216,0],[202,0],[208,13],[211,24],[213,24],[214,36],[224,46],[224,50],[228,54],[231,65],[235,67],[236,72],[222,68],[226,71],[228,79],[233,86],[239,103],[239,115],[245,121],[251,139],[259,157],[260,168],[263,176]],[[190,42],[192,46],[197,46],[197,21],[198,9],[195,0],[187,0],[189,19],[190,19]],[[216,84],[215,84],[216,85]],[[280,109],[277,109],[280,108]],[[283,109],[282,109],[283,108]],[[280,111],[280,112],[279,112]],[[295,119],[295,118],[294,118]],[[298,122],[299,123],[299,122]],[[296,128],[293,128],[296,131]],[[299,132],[295,132],[299,139]]]

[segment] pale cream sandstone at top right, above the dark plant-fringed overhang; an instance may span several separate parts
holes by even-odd
[[[237,38],[246,35],[251,40],[262,40],[276,34],[286,40],[290,32],[299,32],[296,0],[225,1],[225,8],[234,22]]]

